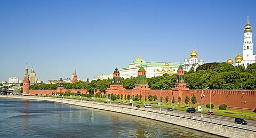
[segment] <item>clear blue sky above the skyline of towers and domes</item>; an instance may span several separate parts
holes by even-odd
[[[205,63],[234,60],[247,15],[256,27],[255,8],[256,1],[1,0],[0,80],[23,79],[26,63],[45,83],[70,78],[75,67],[78,79],[91,80],[138,54],[183,63],[193,46]]]

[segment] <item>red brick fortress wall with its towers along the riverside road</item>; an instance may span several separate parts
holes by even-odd
[[[85,94],[89,93],[87,90],[66,90],[63,86],[63,80],[60,78],[59,80],[59,86],[57,90],[29,90],[29,78],[27,76],[28,69],[26,67],[25,76],[23,79],[23,95],[46,95],[49,94],[50,96],[52,93],[65,93],[66,91],[70,91],[71,93],[77,93],[77,91]],[[74,77],[77,77],[76,74]],[[177,70],[177,80],[175,82],[175,87],[172,88],[172,90],[151,90],[148,87],[148,82],[146,78],[146,71],[141,68],[138,71],[138,77],[137,82],[135,85],[135,88],[133,90],[126,90],[123,87],[123,84],[121,82],[120,74],[117,68],[115,68],[114,74],[113,74],[113,80],[111,81],[110,88],[107,88],[107,94],[116,94],[124,96],[126,95],[142,95],[142,101],[145,99],[145,96],[148,95],[156,95],[158,97],[157,101],[160,100],[160,97],[162,96],[162,105],[164,104],[172,104],[172,98],[174,96],[175,98],[175,104],[178,103],[178,97],[181,97],[181,103],[184,103],[185,97],[188,95],[190,99],[190,106],[191,104],[191,98],[193,94],[196,96],[197,103],[196,105],[201,105],[201,97],[200,95],[203,93],[205,97],[203,98],[203,105],[205,106],[207,103],[210,103],[210,99],[212,104],[215,108],[217,108],[221,104],[227,104],[228,108],[232,109],[239,109],[243,107],[243,110],[249,110],[253,111],[256,108],[256,91],[255,90],[189,90],[189,88],[186,87],[186,81],[184,76],[184,70],[180,64],[179,69]],[[74,83],[74,82],[73,82]],[[98,93],[99,91],[96,91],[95,93]],[[123,98],[124,98],[123,96]],[[168,96],[168,102],[165,102],[165,97]],[[211,97],[211,98],[210,98]],[[146,98],[146,99],[147,99]],[[156,101],[154,101],[156,103]]]

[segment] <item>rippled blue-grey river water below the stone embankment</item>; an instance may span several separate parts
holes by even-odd
[[[0,137],[218,137],[75,105],[0,98]]]

